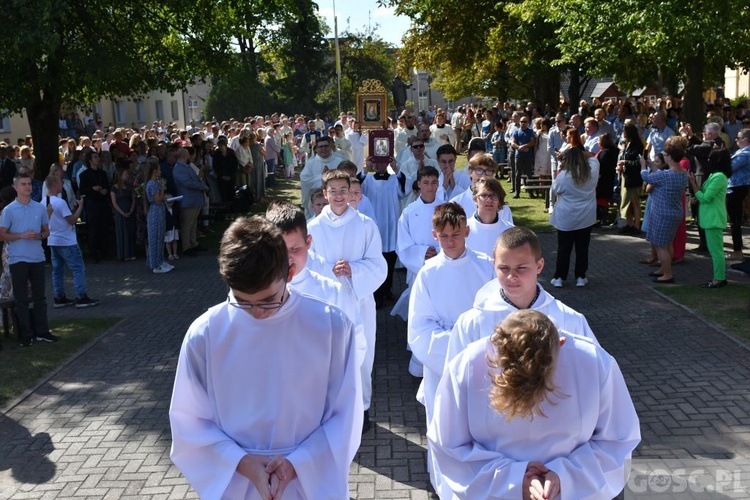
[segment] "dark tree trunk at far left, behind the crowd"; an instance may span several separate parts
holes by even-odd
[[[49,175],[49,169],[59,161],[58,141],[60,129],[60,98],[48,96],[38,99],[27,110],[31,136],[34,138],[34,156],[36,169],[34,177],[44,180]]]

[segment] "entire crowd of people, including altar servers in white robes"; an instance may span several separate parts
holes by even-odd
[[[660,283],[675,281],[692,207],[698,250],[714,264],[704,286],[722,287],[727,217],[742,257],[750,128],[737,126],[737,110],[714,108],[697,137],[674,100],[599,104],[578,113],[407,110],[391,124],[387,156],[366,154],[368,133],[353,113],[334,123],[278,114],[184,130],[97,129],[60,141],[59,165],[41,186],[33,150],[28,166],[2,144],[0,181],[15,193],[5,195],[0,239],[14,288],[30,291],[16,299],[21,343],[57,340],[46,323],[42,249],[56,213],[68,236],[84,218],[93,262],[108,258],[114,219],[117,258],[133,260],[142,245],[162,274],[204,250],[201,215],[259,202],[265,217],[241,217],[223,235],[227,300],[193,323],[179,358],[172,459],[201,496],[346,498],[349,464],[372,425],[376,310],[390,303],[407,321],[408,370],[422,378],[428,472],[441,498],[612,498],[640,441],[638,417],[586,318],[538,283],[539,239],[515,226],[507,194],[520,197],[529,178],[549,180],[554,287],[573,250],[575,284],[587,285],[591,231],[609,223],[613,202],[622,234],[646,232],[653,253],[643,261],[659,266],[651,274]],[[467,168],[457,170],[464,151]],[[297,172],[302,207],[269,203],[266,188]],[[49,245],[55,306],[96,302],[75,278],[75,238]],[[64,265],[76,301],[65,297]],[[398,265],[407,289],[396,297]],[[290,387],[297,397],[279,397]]]

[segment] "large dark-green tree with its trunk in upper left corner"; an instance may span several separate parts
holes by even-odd
[[[57,161],[63,103],[177,90],[206,75],[214,3],[6,0],[0,107],[25,113],[40,176]]]

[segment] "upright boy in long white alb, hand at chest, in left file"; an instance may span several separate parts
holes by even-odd
[[[369,217],[349,206],[349,174],[329,170],[323,174],[323,193],[328,205],[307,226],[312,236],[311,250],[328,264],[333,276],[354,290],[364,324],[367,351],[362,363],[364,423],[370,428],[372,365],[375,361],[375,299],[373,293],[387,273],[380,233]]]

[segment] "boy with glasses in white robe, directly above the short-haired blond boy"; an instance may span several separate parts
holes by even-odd
[[[513,227],[503,219],[500,208],[505,205],[505,190],[494,177],[479,179],[473,190],[477,210],[469,217],[466,244],[472,250],[492,256],[497,238]]]

